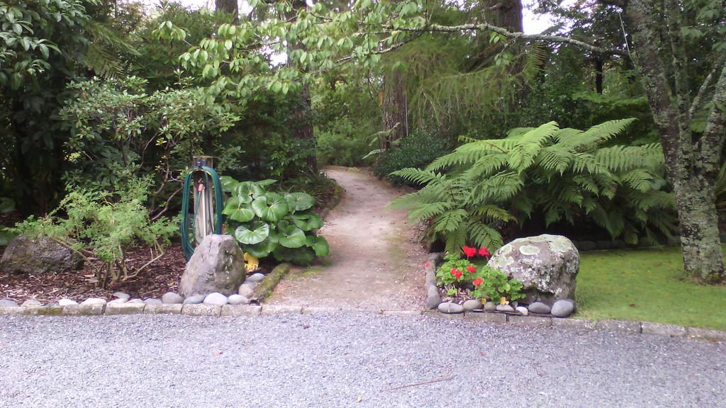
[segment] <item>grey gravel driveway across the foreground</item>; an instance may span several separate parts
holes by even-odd
[[[0,317],[0,405],[726,407],[725,356],[430,316]]]

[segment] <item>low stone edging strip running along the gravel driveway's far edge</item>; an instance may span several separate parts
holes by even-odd
[[[585,320],[576,318],[515,316],[503,313],[468,311],[460,314],[444,314],[439,311],[380,310],[364,311],[330,307],[258,305],[205,305],[205,304],[147,304],[107,303],[70,306],[15,306],[0,307],[0,316],[114,316],[122,314],[183,314],[186,316],[234,317],[277,314],[382,314],[384,316],[428,316],[439,319],[459,319],[468,322],[495,323],[518,327],[532,327],[550,330],[605,330],[628,334],[661,335],[674,338],[717,340],[726,342],[726,331],[702,327],[683,327],[656,322],[635,322],[630,320]]]

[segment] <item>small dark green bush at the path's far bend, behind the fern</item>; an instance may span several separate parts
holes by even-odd
[[[396,147],[383,152],[373,166],[373,173],[379,177],[388,177],[393,184],[417,185],[415,181],[393,172],[402,168],[426,166],[447,152],[446,139],[433,133],[415,131],[401,139]]]

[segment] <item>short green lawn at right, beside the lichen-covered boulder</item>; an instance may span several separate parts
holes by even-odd
[[[726,286],[683,278],[680,248],[582,253],[579,317],[726,330]]]

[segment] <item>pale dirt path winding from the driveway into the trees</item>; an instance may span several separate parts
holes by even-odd
[[[330,256],[285,277],[268,303],[368,310],[421,309],[426,253],[405,211],[388,207],[404,194],[367,171],[330,167],[345,192],[320,234]]]

